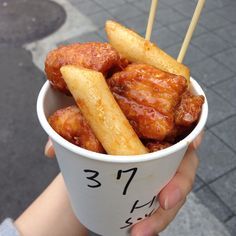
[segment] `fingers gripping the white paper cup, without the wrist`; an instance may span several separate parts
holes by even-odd
[[[200,145],[202,137],[203,133],[189,145],[175,176],[161,190],[159,194],[160,207],[151,217],[134,225],[131,229],[131,236],[157,235],[175,218],[192,190],[199,164],[195,150]],[[50,139],[45,146],[45,155],[49,158],[55,155]]]

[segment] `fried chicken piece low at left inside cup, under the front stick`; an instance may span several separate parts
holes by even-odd
[[[105,152],[77,106],[57,110],[49,117],[48,122],[69,142],[90,151]]]

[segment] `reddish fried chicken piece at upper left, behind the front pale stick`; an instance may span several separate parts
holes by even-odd
[[[121,70],[127,64],[128,60],[122,58],[108,43],[75,43],[49,52],[45,61],[45,72],[53,87],[69,94],[60,72],[62,66],[82,66],[99,71],[106,76],[110,74],[110,70]]]

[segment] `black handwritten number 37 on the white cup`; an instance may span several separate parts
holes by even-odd
[[[101,182],[99,182],[96,179],[99,176],[99,172],[98,171],[85,169],[84,172],[85,173],[91,173],[90,176],[86,177],[91,182],[90,184],[87,185],[88,187],[90,187],[90,188],[98,188],[98,187],[100,187],[102,185]],[[129,177],[129,179],[128,179],[125,187],[124,187],[123,195],[126,195],[128,187],[129,187],[130,183],[132,182],[132,180],[133,180],[133,178],[134,178],[134,176],[135,176],[135,174],[137,172],[137,168],[132,168],[132,169],[128,169],[128,170],[119,170],[117,172],[116,179],[118,179],[118,180],[121,179],[122,173],[128,173],[128,172],[131,172],[131,175],[130,175],[130,177]]]

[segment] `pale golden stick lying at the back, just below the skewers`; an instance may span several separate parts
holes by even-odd
[[[106,22],[106,32],[112,47],[129,61],[145,63],[175,75],[182,75],[189,83],[190,71],[187,66],[177,62],[136,32],[111,20]]]

